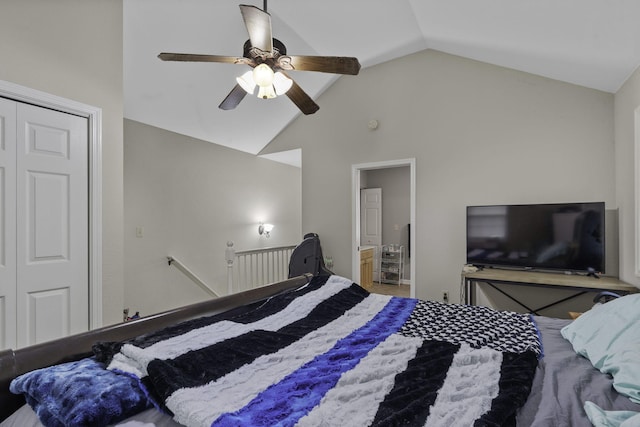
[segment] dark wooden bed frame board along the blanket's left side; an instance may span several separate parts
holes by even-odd
[[[9,383],[18,375],[90,356],[91,346],[98,341],[122,341],[183,320],[222,313],[241,305],[267,299],[309,283],[311,277],[312,275],[306,274],[249,291],[142,317],[131,322],[106,326],[18,350],[0,351],[0,421],[25,404],[23,396],[9,391]]]

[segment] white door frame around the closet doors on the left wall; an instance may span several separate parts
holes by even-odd
[[[89,329],[102,326],[102,109],[0,80],[0,96],[84,117],[89,132]]]

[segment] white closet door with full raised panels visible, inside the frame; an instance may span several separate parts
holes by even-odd
[[[88,124],[17,104],[17,346],[89,327]]]

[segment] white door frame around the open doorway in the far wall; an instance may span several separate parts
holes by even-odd
[[[388,169],[397,167],[409,167],[409,181],[410,181],[410,224],[411,230],[409,231],[409,239],[411,241],[411,257],[413,260],[416,258],[417,242],[416,242],[416,159],[399,159],[399,160],[387,160],[382,162],[372,163],[359,163],[351,165],[351,277],[356,283],[360,282],[360,182],[361,172],[375,169]],[[409,280],[410,296],[415,298],[416,296],[416,263],[411,262],[410,267],[411,279]]]

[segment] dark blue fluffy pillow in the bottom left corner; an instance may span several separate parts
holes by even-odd
[[[91,358],[28,372],[9,389],[24,394],[46,427],[106,426],[151,406],[136,379]]]

